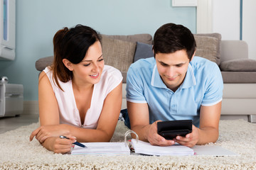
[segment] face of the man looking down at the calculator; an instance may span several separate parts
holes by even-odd
[[[176,91],[181,86],[186,77],[189,62],[186,50],[156,54],[157,70],[164,84],[172,91]]]

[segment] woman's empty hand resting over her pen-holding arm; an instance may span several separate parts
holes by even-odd
[[[29,139],[32,141],[36,136],[36,139],[43,143],[48,137],[59,137],[60,135],[70,135],[65,125],[43,125],[34,130]]]

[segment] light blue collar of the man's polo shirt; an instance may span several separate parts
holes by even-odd
[[[181,89],[186,89],[189,88],[191,86],[195,86],[196,85],[196,78],[195,75],[193,73],[193,69],[191,67],[191,64],[188,64],[188,70],[186,72],[186,77],[183,81],[183,84],[181,84]],[[164,81],[162,81],[160,74],[156,68],[156,64],[154,65],[154,69],[152,72],[152,77],[151,77],[151,86],[155,86],[158,88],[167,88],[167,86],[164,84]]]

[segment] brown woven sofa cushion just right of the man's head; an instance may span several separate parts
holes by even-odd
[[[221,35],[219,33],[194,34],[196,56],[204,57],[220,65]]]

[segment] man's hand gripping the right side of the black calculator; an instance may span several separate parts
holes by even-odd
[[[192,125],[192,132],[187,134],[186,137],[177,136],[174,141],[179,143],[180,145],[184,145],[186,147],[193,147],[199,140],[199,132],[196,126]]]

